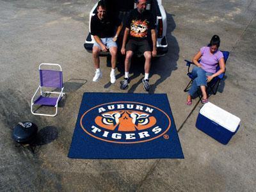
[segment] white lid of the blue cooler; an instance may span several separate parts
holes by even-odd
[[[211,102],[205,103],[199,113],[231,132],[236,131],[241,121],[237,116],[232,115],[228,111],[219,108]]]

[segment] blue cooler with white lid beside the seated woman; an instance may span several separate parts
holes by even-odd
[[[200,109],[196,127],[226,145],[239,129],[240,118],[207,102]]]

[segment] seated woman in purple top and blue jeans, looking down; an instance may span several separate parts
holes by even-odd
[[[191,73],[195,79],[188,92],[189,95],[186,102],[187,105],[190,106],[192,104],[192,96],[198,90],[198,87],[200,87],[202,91],[202,102],[208,102],[206,93],[207,83],[210,82],[214,77],[225,72],[225,62],[222,52],[218,51],[219,47],[220,37],[218,35],[214,35],[212,36],[209,47],[202,47],[194,56],[192,61],[196,67],[193,68]],[[218,65],[220,65],[220,70],[216,72]]]

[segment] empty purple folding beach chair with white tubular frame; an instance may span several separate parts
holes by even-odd
[[[58,68],[58,70],[52,69],[42,69],[44,68]],[[59,64],[54,63],[41,63],[39,65],[39,74],[40,74],[40,85],[38,86],[35,94],[31,99],[31,113],[33,115],[44,115],[44,116],[56,116],[58,112],[58,102],[63,97],[63,81],[62,81],[62,70]],[[61,92],[47,91],[51,88],[61,89]],[[40,90],[40,96],[34,100],[36,93]],[[51,97],[51,95],[56,95],[56,97]],[[33,111],[34,105],[41,106],[54,106],[56,112],[54,114],[44,114],[44,113],[35,113]]]

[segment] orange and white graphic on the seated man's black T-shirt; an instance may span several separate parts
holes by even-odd
[[[147,20],[132,20],[130,35],[137,38],[147,37],[148,21]]]

